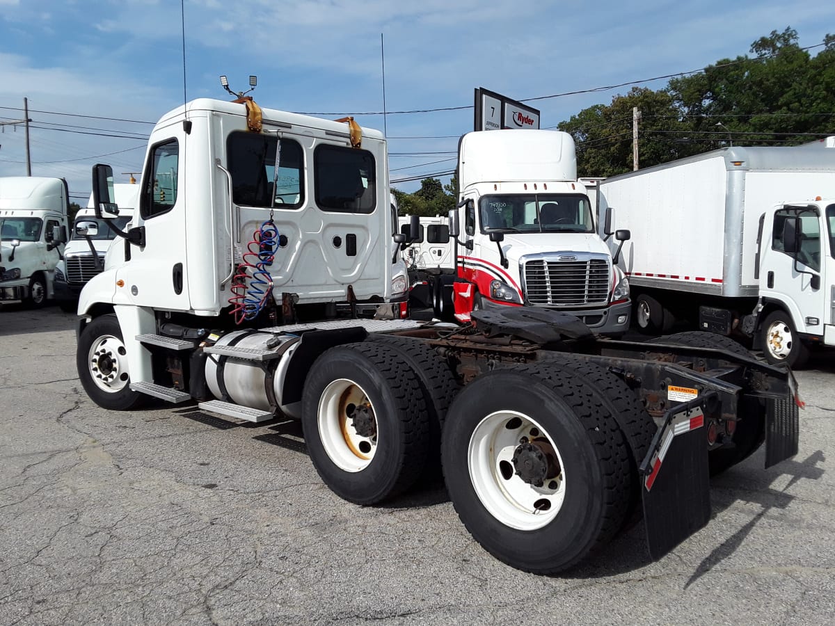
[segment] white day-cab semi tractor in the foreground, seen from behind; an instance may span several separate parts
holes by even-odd
[[[473,537],[537,573],[603,546],[641,501],[657,558],[709,520],[709,471],[763,439],[769,464],[797,452],[791,373],[725,337],[598,340],[530,306],[468,326],[358,319],[406,296],[387,177],[377,131],[247,99],[164,115],[128,245],[110,249],[124,259],[81,292],[84,390],[114,410],[154,396],[296,417],[323,481],[360,504],[443,462]],[[111,186],[95,166],[99,219],[117,215]]]

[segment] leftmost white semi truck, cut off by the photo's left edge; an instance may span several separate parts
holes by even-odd
[[[63,179],[0,178],[0,300],[43,306],[67,240],[69,192]]]

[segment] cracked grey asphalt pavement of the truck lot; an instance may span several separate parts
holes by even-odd
[[[480,548],[437,481],[342,501],[296,422],[99,408],[73,322],[0,305],[0,625],[835,619],[835,356],[797,372],[797,457],[711,480],[706,528],[651,562],[639,523],[544,577]]]

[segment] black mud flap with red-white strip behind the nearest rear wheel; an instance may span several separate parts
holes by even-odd
[[[711,396],[715,394],[667,411],[640,465],[646,542],[653,559],[663,557],[711,518],[704,414]]]

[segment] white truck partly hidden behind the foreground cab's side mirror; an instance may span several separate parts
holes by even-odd
[[[139,200],[139,185],[114,184],[114,201],[119,205],[119,217],[114,225],[124,229],[134,215]],[[90,195],[86,208],[75,214],[70,240],[63,249],[63,260],[55,265],[54,298],[61,310],[75,312],[78,294],[87,281],[104,270],[105,255],[117,238],[109,227],[109,220],[99,220]],[[122,245],[119,240],[118,245]]]

